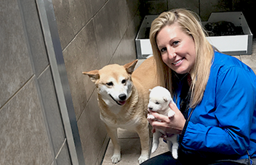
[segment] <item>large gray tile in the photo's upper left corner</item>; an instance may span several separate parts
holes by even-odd
[[[17,1],[1,2],[0,107],[32,76],[31,62]]]

